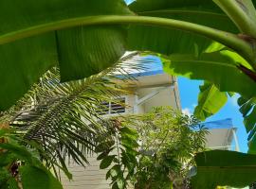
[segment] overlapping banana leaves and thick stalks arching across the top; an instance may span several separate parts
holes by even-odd
[[[62,81],[88,77],[125,50],[157,53],[169,74],[205,79],[221,92],[250,99],[256,94],[254,3],[137,0],[128,7],[122,0],[2,1],[0,109],[57,63]]]

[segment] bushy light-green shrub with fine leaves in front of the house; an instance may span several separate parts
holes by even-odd
[[[168,107],[155,108],[138,120],[133,123],[141,142],[136,188],[186,184],[193,154],[204,149],[207,130],[196,119]]]

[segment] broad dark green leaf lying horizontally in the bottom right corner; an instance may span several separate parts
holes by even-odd
[[[256,180],[256,156],[235,151],[212,150],[196,154],[197,173],[192,188],[215,189],[217,185],[242,188]]]

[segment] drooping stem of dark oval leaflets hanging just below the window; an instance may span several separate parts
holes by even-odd
[[[119,122],[117,123],[119,124]],[[138,135],[134,129],[119,127],[119,125],[110,125],[107,142],[102,141],[99,144],[99,146],[105,146],[105,148],[101,148],[101,151],[98,151],[101,154],[97,159],[101,160],[101,169],[111,166],[106,173],[106,180],[112,180],[112,188],[126,189],[137,166]],[[108,140],[112,141],[110,146]]]

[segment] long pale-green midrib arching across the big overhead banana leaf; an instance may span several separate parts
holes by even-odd
[[[149,17],[149,16],[119,16],[119,15],[103,15],[103,16],[86,16],[79,18],[65,19],[61,21],[53,21],[38,26],[31,26],[25,29],[9,32],[0,36],[0,44],[10,43],[19,39],[46,33],[48,31],[69,28],[73,26],[101,26],[116,24],[135,24],[147,26],[160,26],[171,29],[180,29],[192,33],[196,33],[216,42],[223,43],[229,48],[237,51],[250,63],[255,63],[256,58],[250,43],[240,39],[237,35],[214,29],[209,26],[201,26],[174,19]]]

